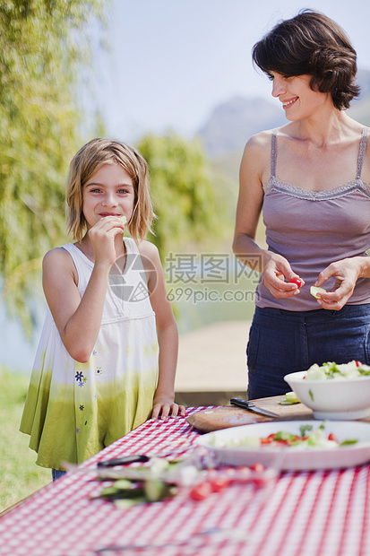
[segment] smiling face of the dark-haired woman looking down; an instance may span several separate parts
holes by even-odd
[[[326,92],[313,91],[310,87],[311,75],[284,77],[271,73],[273,80],[271,94],[279,98],[285,115],[290,121],[314,116],[324,105],[331,103],[331,95]]]

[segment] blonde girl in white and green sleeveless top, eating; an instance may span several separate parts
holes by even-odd
[[[43,261],[47,317],[21,430],[55,479],[174,403],[177,327],[159,253],[148,168],[125,143],[93,139],[71,162],[68,231]],[[125,221],[133,239],[123,238]]]

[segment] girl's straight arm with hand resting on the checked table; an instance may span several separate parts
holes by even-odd
[[[168,301],[166,284],[158,249],[148,241],[140,244],[140,253],[151,262],[148,273],[148,290],[151,307],[156,314],[157,334],[159,342],[159,379],[153,400],[151,417],[167,419],[168,415],[176,417],[179,413],[185,416],[185,407],[175,404],[175,374],[178,351],[178,332],[176,320]]]

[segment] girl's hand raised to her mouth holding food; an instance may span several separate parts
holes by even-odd
[[[106,216],[89,230],[89,238],[94,248],[95,264],[114,265],[117,256],[116,236],[123,235],[125,224],[117,216]]]

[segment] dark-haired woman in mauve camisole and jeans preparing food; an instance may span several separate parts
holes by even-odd
[[[240,168],[233,248],[262,272],[249,398],[284,394],[284,376],[314,362],[370,363],[370,150],[367,128],[345,112],[359,93],[356,52],[337,23],[304,11],[253,58],[288,124],[254,135]],[[267,249],[254,242],[261,213]],[[318,299],[313,285],[326,290]]]

